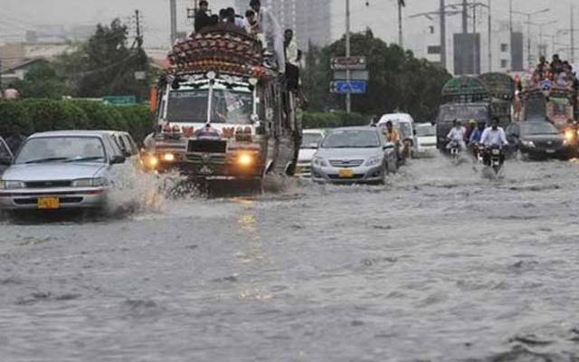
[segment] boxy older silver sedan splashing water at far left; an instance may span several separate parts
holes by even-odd
[[[0,178],[0,208],[100,208],[125,157],[104,132],[38,133]]]

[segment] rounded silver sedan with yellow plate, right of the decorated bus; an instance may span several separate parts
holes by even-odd
[[[312,159],[312,177],[318,183],[384,184],[396,167],[394,144],[384,142],[378,129],[334,129]]]

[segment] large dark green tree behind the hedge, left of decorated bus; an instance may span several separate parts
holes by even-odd
[[[97,30],[79,51],[63,54],[59,68],[66,70],[79,97],[135,95],[147,99],[148,80],[137,80],[135,73],[152,74],[147,54],[138,42],[128,46],[127,26],[119,19]]]

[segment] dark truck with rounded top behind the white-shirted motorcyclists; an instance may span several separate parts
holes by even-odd
[[[436,119],[436,148],[444,150],[454,119],[465,125],[470,120],[489,123],[490,92],[479,78],[455,77],[442,88],[442,104]]]

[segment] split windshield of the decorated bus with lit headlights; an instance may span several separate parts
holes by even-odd
[[[166,119],[176,123],[205,123],[207,121],[209,90],[171,90],[167,103]],[[253,94],[249,88],[227,89],[215,85],[211,122],[251,124]]]

